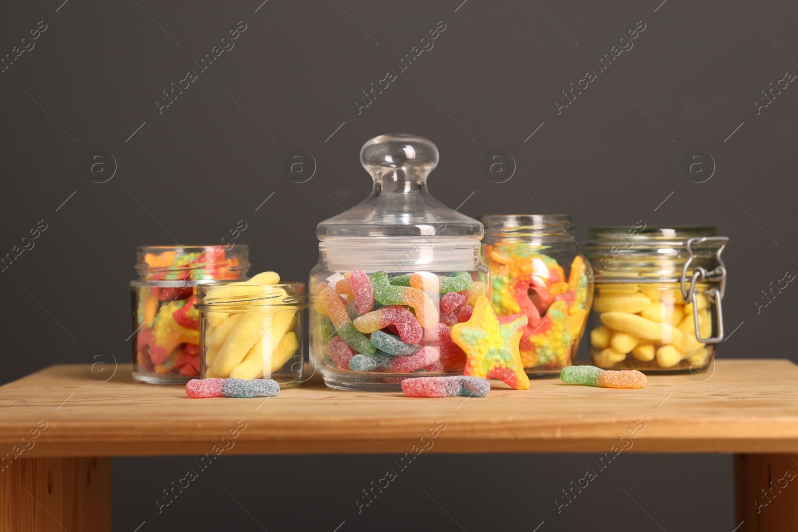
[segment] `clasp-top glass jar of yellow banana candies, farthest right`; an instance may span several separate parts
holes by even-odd
[[[729,238],[715,227],[598,227],[591,359],[600,368],[701,371],[723,340]]]

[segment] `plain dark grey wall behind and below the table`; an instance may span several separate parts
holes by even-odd
[[[238,242],[251,246],[253,271],[306,279],[316,223],[341,211],[336,202],[348,208],[369,192],[361,144],[395,131],[437,143],[430,191],[452,207],[468,199],[466,214],[573,213],[580,241],[587,227],[641,219],[717,225],[732,238],[724,304],[727,334],[734,330],[718,356],[796,359],[796,289],[760,313],[754,301],[798,271],[798,87],[760,115],[753,105],[785,71],[798,72],[795,2],[61,1],[15,2],[0,18],[3,55],[39,21],[48,25],[0,73],[0,254],[39,220],[48,224],[0,274],[10,304],[0,382],[98,354],[128,361],[137,245],[216,243],[243,219]],[[242,20],[235,48],[159,115],[161,91]],[[434,48],[358,115],[361,90],[440,20]],[[552,100],[641,20],[634,47],[558,115]],[[117,160],[107,183],[82,169],[98,148]],[[318,164],[306,183],[282,173],[294,149]],[[480,170],[493,149],[516,160],[506,183]],[[705,183],[682,175],[693,149],[717,164]],[[144,521],[142,532],[259,530],[253,518],[266,530],[332,531],[345,521],[342,532],[738,524],[728,455],[623,454],[601,487],[561,514],[555,499],[595,456],[421,455],[358,514],[354,499],[393,458],[222,456],[162,514],[153,501],[192,459],[116,459],[115,530]]]

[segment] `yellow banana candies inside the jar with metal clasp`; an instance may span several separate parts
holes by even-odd
[[[712,315],[706,286],[697,285],[698,327],[701,337],[712,336]],[[678,284],[601,283],[593,309],[601,325],[591,330],[591,357],[602,367],[618,365],[627,355],[634,366],[652,368],[704,365],[709,352],[697,340],[693,303],[685,302]],[[712,349],[711,347],[709,349]]]

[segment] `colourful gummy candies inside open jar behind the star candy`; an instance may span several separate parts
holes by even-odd
[[[583,258],[574,258],[566,278],[555,258],[531,250],[528,244],[483,244],[483,254],[491,270],[493,309],[499,316],[527,315],[519,345],[523,367],[571,365],[590,304]]]

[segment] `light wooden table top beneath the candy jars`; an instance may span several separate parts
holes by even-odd
[[[0,387],[0,456],[15,445],[24,446],[28,458],[204,455],[219,449],[214,446],[228,454],[421,447],[450,453],[798,452],[798,366],[784,360],[721,359],[709,379],[649,376],[641,390],[550,378],[532,380],[525,392],[493,381],[488,397],[444,399],[341,392],[313,376],[265,401],[192,400],[182,386],[136,382],[130,371],[120,365],[111,380],[99,383],[85,366],[56,365]],[[46,428],[31,432],[37,424]]]

